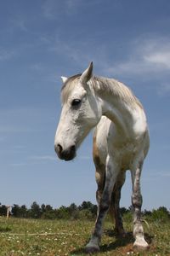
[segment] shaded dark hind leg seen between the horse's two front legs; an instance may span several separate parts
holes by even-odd
[[[120,199],[121,199],[121,189],[123,184],[125,183],[126,172],[122,171],[119,173],[116,184],[114,186],[112,195],[111,195],[111,207],[110,207],[110,215],[111,218],[115,217],[115,231],[120,236],[125,236],[126,232],[123,229],[122,224],[122,214],[120,211]]]

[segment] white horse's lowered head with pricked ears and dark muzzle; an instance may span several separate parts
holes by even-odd
[[[62,78],[63,106],[54,140],[55,151],[62,160],[72,160],[76,156],[77,148],[101,118],[92,73],[93,63],[80,75]]]

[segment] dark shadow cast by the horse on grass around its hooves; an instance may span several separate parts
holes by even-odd
[[[114,251],[117,248],[126,247],[127,245],[130,245],[130,244],[132,244],[132,247],[133,247],[133,242],[134,242],[133,232],[128,232],[127,236],[120,237],[120,236],[117,236],[116,232],[113,231],[113,230],[105,230],[105,235],[106,236],[111,236],[111,237],[116,237],[116,240],[109,243],[109,244],[101,245],[99,247],[100,248],[99,253],[106,253],[106,252]],[[150,244],[151,241],[152,241],[153,236],[150,236],[149,234],[146,233],[146,234],[144,234],[144,238]],[[69,255],[73,256],[73,255],[83,255],[83,254],[85,254],[84,247],[81,247],[77,250],[72,251]]]

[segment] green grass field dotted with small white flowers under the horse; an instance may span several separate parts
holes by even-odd
[[[114,235],[111,222],[107,221],[97,255],[170,255],[170,223],[144,224],[145,237],[150,243],[147,253],[133,252],[132,224],[125,222],[127,237]],[[0,218],[0,255],[85,255],[92,221],[43,220]]]

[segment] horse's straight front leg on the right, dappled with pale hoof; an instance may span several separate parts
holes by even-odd
[[[140,192],[140,174],[143,162],[136,161],[131,169],[133,183],[133,236],[135,241],[133,247],[137,250],[146,250],[149,248],[148,243],[144,240],[144,229],[141,221],[142,195]]]

